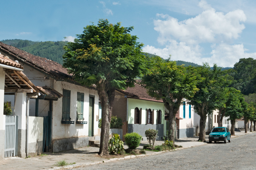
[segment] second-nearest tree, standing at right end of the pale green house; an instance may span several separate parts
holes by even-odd
[[[193,67],[177,66],[175,62],[153,57],[151,73],[142,77],[142,85],[148,94],[162,99],[169,111],[169,139],[174,142],[175,116],[184,98],[192,97],[198,90],[197,73]]]

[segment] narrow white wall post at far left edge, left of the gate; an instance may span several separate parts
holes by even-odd
[[[0,160],[4,159],[4,139],[5,139],[5,115],[3,115],[3,102],[4,102],[4,78],[5,73],[0,67]]]

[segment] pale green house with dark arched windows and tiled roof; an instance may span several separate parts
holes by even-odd
[[[148,129],[158,130],[157,140],[165,135],[163,101],[149,96],[146,89],[139,84],[115,91],[112,112],[114,116],[122,118],[123,135],[136,132],[146,140],[145,131]]]

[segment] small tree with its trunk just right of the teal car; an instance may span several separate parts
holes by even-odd
[[[235,135],[234,124],[236,119],[240,119],[243,116],[243,103],[244,95],[239,90],[229,88],[225,110],[226,116],[229,116],[229,120],[231,121],[231,135]]]

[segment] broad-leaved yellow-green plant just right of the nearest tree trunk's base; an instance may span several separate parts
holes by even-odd
[[[109,140],[109,153],[120,154],[124,152],[124,142],[120,139],[118,134],[114,134]]]

